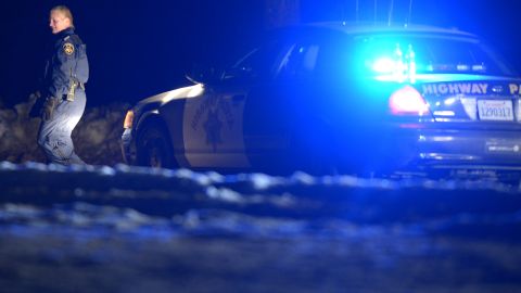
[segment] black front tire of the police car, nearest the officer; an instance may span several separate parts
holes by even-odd
[[[166,127],[160,123],[148,123],[137,140],[138,165],[155,168],[175,168],[174,148]]]

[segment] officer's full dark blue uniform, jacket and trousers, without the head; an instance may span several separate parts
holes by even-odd
[[[58,98],[52,118],[43,120],[38,131],[38,145],[50,163],[61,165],[85,164],[74,152],[71,138],[85,111],[85,84],[89,78],[86,46],[67,28],[49,52],[42,85],[42,98]]]

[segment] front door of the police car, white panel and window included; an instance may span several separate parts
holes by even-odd
[[[218,82],[205,86],[204,94],[187,99],[183,141],[192,167],[252,166],[245,136],[257,135],[252,125],[276,125],[269,113],[269,84],[281,50],[277,39],[266,40],[230,66]],[[245,115],[252,106],[257,107],[255,114]]]

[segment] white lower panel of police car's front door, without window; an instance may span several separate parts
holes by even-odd
[[[188,98],[183,107],[185,156],[191,167],[242,168],[242,117],[245,91],[226,85],[205,86],[201,95]]]

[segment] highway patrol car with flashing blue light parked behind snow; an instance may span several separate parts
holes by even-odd
[[[521,79],[457,29],[306,24],[189,79],[127,113],[126,162],[274,173],[521,166]]]

